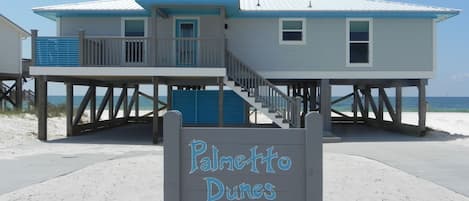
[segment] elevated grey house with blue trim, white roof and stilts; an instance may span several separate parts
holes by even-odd
[[[338,120],[405,129],[402,87],[417,87],[414,131],[422,133],[425,86],[436,68],[436,25],[459,13],[375,0],[102,0],[33,10],[57,23],[56,37],[32,32],[39,137],[47,139],[45,86],[58,81],[67,85],[69,135],[153,116],[155,142],[159,127],[153,114],[161,101],[139,92],[142,84],[153,85],[154,94],[167,85],[167,107],[194,120],[186,123],[208,117],[214,118],[205,123],[218,126],[242,123],[245,113],[227,120],[243,115],[239,111],[247,103],[282,128],[301,127],[306,112],[320,111],[326,130],[331,113]],[[74,85],[89,86],[76,114]],[[332,101],[331,85],[353,91]],[[209,93],[206,86],[219,90]],[[99,105],[96,87],[108,89]],[[109,98],[114,88],[122,89],[117,102]],[[396,94],[387,94],[388,88]],[[152,114],[139,114],[139,97],[153,100]],[[353,116],[333,109],[350,97]],[[82,124],[87,105],[90,122]],[[106,108],[109,117],[102,116]],[[392,122],[383,120],[385,111]]]

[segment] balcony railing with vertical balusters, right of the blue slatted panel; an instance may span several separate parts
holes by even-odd
[[[223,67],[224,40],[216,38],[87,37],[83,66]]]

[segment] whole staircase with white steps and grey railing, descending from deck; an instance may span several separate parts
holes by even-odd
[[[301,126],[301,100],[288,97],[274,84],[226,51],[224,84],[281,128]]]

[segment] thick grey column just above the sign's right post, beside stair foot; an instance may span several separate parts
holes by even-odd
[[[328,79],[321,80],[321,107],[320,113],[324,122],[324,130],[331,131],[331,84]]]

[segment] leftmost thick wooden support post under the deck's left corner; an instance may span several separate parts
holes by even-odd
[[[38,96],[37,116],[38,116],[38,133],[37,137],[41,141],[47,141],[47,77],[39,76],[36,78],[38,81]]]

